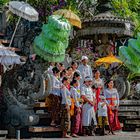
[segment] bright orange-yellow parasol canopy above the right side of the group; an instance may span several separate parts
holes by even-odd
[[[105,66],[108,67],[112,63],[122,64],[123,62],[121,60],[119,60],[116,56],[114,56],[113,54],[111,54],[107,57],[100,58],[100,59],[95,61],[96,66],[100,66],[102,64],[105,64]]]

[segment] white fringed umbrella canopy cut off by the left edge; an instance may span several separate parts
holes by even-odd
[[[22,64],[22,62],[20,61],[19,55],[10,51],[7,47],[0,45],[0,64],[8,66],[13,64]]]

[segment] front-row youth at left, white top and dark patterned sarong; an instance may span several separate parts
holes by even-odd
[[[63,131],[63,138],[70,138],[67,131],[70,130],[70,106],[71,106],[71,93],[67,86],[70,84],[68,78],[64,77],[62,80],[63,88],[61,92],[61,127]]]

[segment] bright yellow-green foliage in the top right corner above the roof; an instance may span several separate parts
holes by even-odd
[[[140,32],[140,0],[112,0],[114,13],[131,19],[135,24],[135,34]]]

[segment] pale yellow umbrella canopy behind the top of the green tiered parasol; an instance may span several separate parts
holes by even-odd
[[[80,18],[76,14],[74,14],[71,10],[60,9],[60,10],[55,11],[53,14],[54,15],[61,15],[61,16],[65,17],[66,19],[68,19],[68,21],[73,26],[81,28],[81,20],[80,20]]]

